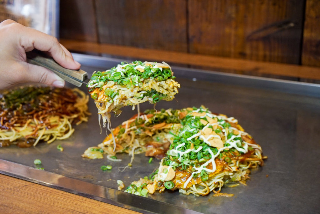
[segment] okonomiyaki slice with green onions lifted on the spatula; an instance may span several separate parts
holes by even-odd
[[[133,110],[138,105],[139,114],[139,103],[171,101],[180,87],[174,79],[171,67],[164,62],[122,62],[93,73],[87,87],[98,108],[99,124],[101,118],[103,127],[108,121],[107,128],[113,134],[111,111],[118,115],[122,107],[132,105]]]

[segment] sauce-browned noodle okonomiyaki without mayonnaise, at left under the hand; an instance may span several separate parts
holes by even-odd
[[[89,96],[79,89],[25,86],[0,94],[0,147],[66,139],[87,121]]]

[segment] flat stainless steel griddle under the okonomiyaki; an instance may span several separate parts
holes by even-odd
[[[105,70],[121,62],[118,59],[74,54],[88,71]],[[224,187],[222,193],[234,197],[183,195],[178,191],[155,193],[148,198],[117,190],[116,180],[126,186],[150,174],[159,160],[148,163],[144,154],[136,155],[132,168],[119,167],[130,162],[127,154],[117,155],[122,162],[89,160],[81,154],[96,146],[106,136],[100,134],[97,109],[92,100],[88,123],[75,127],[67,140],[41,143],[32,148],[0,148],[0,173],[18,177],[67,192],[94,198],[127,209],[156,213],[316,213],[320,201],[320,86],[285,80],[207,72],[173,67],[181,84],[171,102],[161,101],[156,109],[199,107],[223,113],[239,120],[268,156],[265,165],[252,170],[247,186]],[[70,85],[71,86],[71,85]],[[86,87],[82,86],[86,91]],[[140,105],[140,110],[152,108]],[[112,126],[129,119],[136,111],[125,107]],[[56,149],[61,144],[63,152]],[[35,169],[33,161],[42,160],[44,170]],[[102,165],[112,165],[103,172]]]

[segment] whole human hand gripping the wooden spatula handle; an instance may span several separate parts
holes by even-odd
[[[65,68],[80,68],[80,63],[74,61],[71,53],[57,38],[15,21],[5,20],[0,23],[0,38],[0,89],[27,82],[64,86],[64,80],[52,71],[26,62],[26,52],[33,49],[47,52]]]

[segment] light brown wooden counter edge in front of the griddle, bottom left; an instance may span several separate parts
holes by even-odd
[[[0,213],[137,213],[0,174]]]

